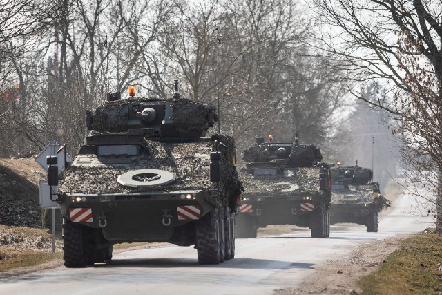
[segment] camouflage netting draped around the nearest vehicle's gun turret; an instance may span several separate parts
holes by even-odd
[[[155,99],[133,97],[120,99],[113,102],[106,102],[104,106],[99,106],[93,114],[93,124],[90,129],[98,132],[125,132],[128,125],[128,102],[171,102],[173,120],[178,131],[208,130],[209,122],[207,115],[209,107],[189,99]],[[214,120],[218,116],[214,113]]]

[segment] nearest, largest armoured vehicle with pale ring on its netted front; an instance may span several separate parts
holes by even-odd
[[[215,108],[182,98],[177,82],[173,99],[132,89],[86,111],[90,135],[57,192],[64,265],[111,260],[122,242],[195,245],[202,264],[233,258],[242,183],[233,138],[205,137],[217,120]]]

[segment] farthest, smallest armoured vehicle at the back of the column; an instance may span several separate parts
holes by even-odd
[[[371,169],[356,166],[332,167],[332,208],[330,222],[365,225],[367,232],[378,231],[378,213],[390,206],[381,195],[378,182],[372,182]]]

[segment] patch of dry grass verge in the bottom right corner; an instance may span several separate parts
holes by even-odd
[[[407,238],[358,285],[362,294],[442,294],[442,236]]]

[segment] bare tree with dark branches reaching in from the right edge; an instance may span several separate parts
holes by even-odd
[[[405,162],[436,166],[436,228],[442,233],[442,6],[422,0],[315,0],[325,32],[321,39],[336,58],[336,68],[349,71],[349,81],[365,85],[379,79],[387,93],[354,95],[388,111],[401,124],[392,126],[409,147]],[[376,98],[373,98],[376,97]],[[434,169],[432,169],[434,171]]]

